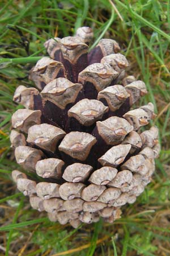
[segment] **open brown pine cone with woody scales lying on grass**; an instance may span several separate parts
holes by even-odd
[[[35,180],[14,170],[19,191],[51,221],[112,222],[150,183],[159,155],[158,128],[140,131],[155,117],[143,81],[126,76],[128,60],[117,42],[102,39],[88,53],[89,27],[76,36],[45,43],[49,57],[31,70],[36,88],[20,85],[12,115],[16,162]],[[27,138],[26,138],[27,137]],[[44,179],[44,181],[40,181]]]

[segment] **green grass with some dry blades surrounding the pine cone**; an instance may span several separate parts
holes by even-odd
[[[0,255],[170,255],[170,1],[114,5],[122,19],[106,0],[0,2]],[[162,151],[152,183],[123,208],[120,220],[73,230],[52,224],[16,191],[10,173],[18,165],[8,137],[11,115],[21,108],[12,95],[18,85],[31,84],[29,70],[46,55],[45,40],[73,35],[82,25],[94,28],[92,47],[104,36],[117,40],[130,61],[129,73],[146,82],[149,93],[139,104],[155,105]]]

